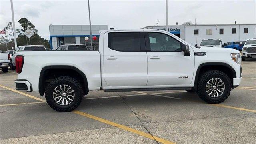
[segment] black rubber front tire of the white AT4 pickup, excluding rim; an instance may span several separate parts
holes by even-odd
[[[206,89],[205,89],[206,83],[208,82],[208,80],[212,78],[220,78],[225,84],[225,90],[223,94],[220,95],[219,97],[213,98],[209,96],[206,92]],[[228,98],[230,92],[231,92],[231,80],[224,72],[221,72],[218,70],[209,70],[204,72],[198,80],[197,94],[202,100],[204,100],[207,103],[217,104],[217,103],[223,102]]]

